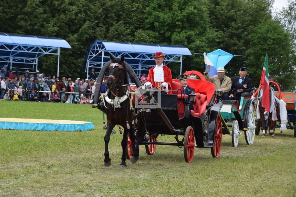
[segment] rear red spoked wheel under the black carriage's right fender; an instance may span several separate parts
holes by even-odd
[[[211,147],[211,153],[214,158],[218,158],[221,151],[222,145],[222,125],[220,115],[217,117],[217,122],[215,126],[215,140],[214,145]]]

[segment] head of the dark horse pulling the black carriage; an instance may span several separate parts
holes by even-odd
[[[115,58],[110,54],[110,60],[112,63],[109,66],[109,77],[106,81],[106,85],[108,89],[112,89],[113,87],[126,83],[125,80],[125,66],[124,66],[124,56],[121,58]]]

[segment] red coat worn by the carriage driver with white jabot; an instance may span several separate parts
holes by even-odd
[[[163,82],[154,82],[154,71],[153,69],[155,66],[151,69],[149,69],[148,77],[147,77],[147,82],[150,82],[152,84],[153,88],[159,87]],[[163,65],[163,79],[164,82],[168,83],[168,90],[172,90],[172,84],[173,84],[173,79],[172,79],[172,73],[170,69]],[[172,92],[168,92],[168,94],[172,94]]]

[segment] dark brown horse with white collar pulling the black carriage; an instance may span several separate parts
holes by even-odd
[[[132,122],[135,119],[135,111],[130,108],[129,82],[126,66],[124,65],[124,56],[115,58],[110,55],[112,63],[109,66],[109,78],[106,81],[108,90],[107,97],[104,97],[104,107],[102,110],[107,115],[107,131],[104,137],[105,141],[105,159],[104,165],[109,167],[111,159],[109,157],[108,144],[110,134],[115,125],[123,127],[123,139],[121,141],[122,157],[120,167],[126,167],[126,146],[127,136],[129,133],[132,142],[133,157],[131,163],[136,163],[139,159],[139,144],[135,146],[135,133],[133,132]],[[110,102],[111,101],[111,102]],[[134,106],[133,106],[134,107]],[[145,121],[143,121],[142,113],[138,113],[138,139],[144,136]]]

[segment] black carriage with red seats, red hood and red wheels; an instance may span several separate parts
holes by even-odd
[[[147,154],[153,154],[156,145],[171,145],[183,146],[185,161],[189,163],[195,147],[211,148],[212,156],[219,157],[222,100],[215,97],[215,87],[210,82],[188,79],[188,85],[195,90],[190,95],[194,100],[193,110],[189,109],[188,95],[181,94],[183,86],[177,80],[173,81],[172,94],[152,94],[156,100],[161,96],[161,109],[150,108],[146,120],[149,140],[141,141],[139,145],[145,145]],[[159,135],[174,135],[176,143],[161,142]],[[127,157],[131,158],[131,155],[131,141],[128,139]]]

